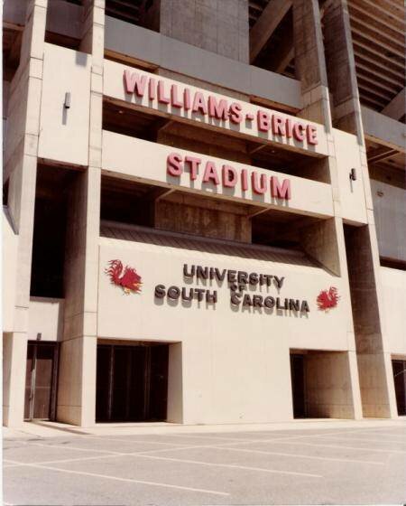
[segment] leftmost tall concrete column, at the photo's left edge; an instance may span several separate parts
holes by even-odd
[[[10,85],[8,136],[5,142],[5,181],[9,181],[9,214],[18,233],[14,332],[4,338],[4,423],[23,423],[25,361],[27,357],[32,234],[42,64],[48,0],[27,5],[20,65]]]

